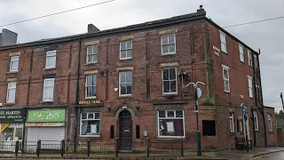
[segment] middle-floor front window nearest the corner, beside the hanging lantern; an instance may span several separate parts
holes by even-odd
[[[162,68],[162,93],[177,93],[177,68]]]

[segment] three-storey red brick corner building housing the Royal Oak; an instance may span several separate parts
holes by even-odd
[[[124,28],[89,25],[86,34],[1,47],[0,109],[25,108],[21,140],[183,138],[195,148],[193,87],[185,85],[200,81],[202,148],[233,147],[245,124],[256,147],[275,146],[258,56],[202,8]]]

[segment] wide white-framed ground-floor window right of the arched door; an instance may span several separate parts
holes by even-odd
[[[158,137],[185,137],[184,110],[158,110]]]

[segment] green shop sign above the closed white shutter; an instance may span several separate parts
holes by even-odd
[[[65,109],[29,110],[28,122],[64,122]]]

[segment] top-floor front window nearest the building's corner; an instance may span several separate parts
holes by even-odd
[[[162,54],[176,53],[176,35],[162,36]]]

